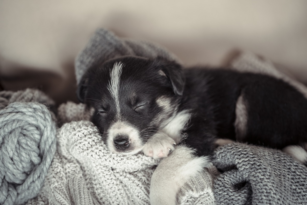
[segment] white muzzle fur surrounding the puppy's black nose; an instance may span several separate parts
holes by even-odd
[[[115,122],[108,130],[108,133],[107,147],[113,153],[118,153],[113,144],[114,138],[118,135],[127,135],[129,137],[130,148],[133,149],[130,152],[122,152],[123,154],[133,155],[140,152],[143,148],[142,141],[139,137],[139,131],[128,122],[121,120]]]

